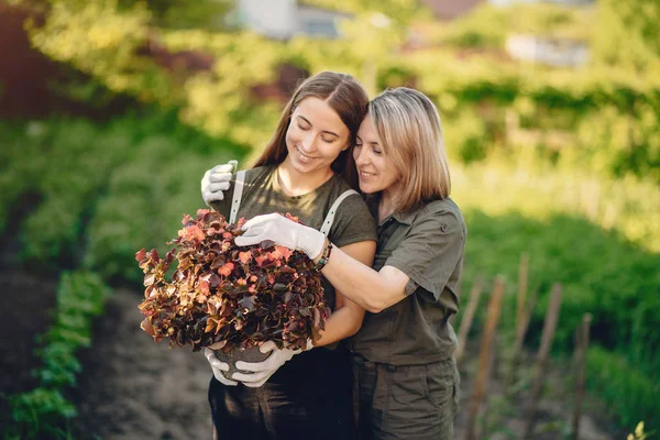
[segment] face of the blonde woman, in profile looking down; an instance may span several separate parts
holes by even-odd
[[[392,160],[385,155],[381,138],[378,138],[369,114],[358,131],[353,158],[358,167],[362,193],[374,194],[383,190],[394,193],[398,189],[398,173]]]

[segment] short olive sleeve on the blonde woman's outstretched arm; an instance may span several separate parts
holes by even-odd
[[[414,221],[385,265],[398,268],[410,278],[406,295],[421,287],[430,294],[427,299],[436,302],[462,263],[464,244],[465,228],[460,213],[427,212]]]

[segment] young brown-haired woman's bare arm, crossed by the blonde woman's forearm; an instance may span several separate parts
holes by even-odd
[[[375,241],[361,241],[348,244],[332,252],[341,251],[353,261],[371,265],[376,252]],[[334,283],[331,282],[334,286]],[[348,299],[339,289],[336,289],[337,300],[334,311],[326,321],[321,338],[315,342],[315,346],[328,345],[342,339],[352,337],[360,330],[364,318],[364,308]]]

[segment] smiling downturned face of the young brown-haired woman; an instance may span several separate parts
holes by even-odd
[[[305,98],[286,131],[287,161],[299,173],[324,170],[349,147],[350,132],[322,99]]]

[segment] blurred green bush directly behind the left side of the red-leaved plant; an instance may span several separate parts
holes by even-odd
[[[176,237],[183,213],[205,207],[199,193],[204,172],[243,154],[231,144],[212,156],[183,154],[164,138],[146,139],[138,150],[133,162],[110,179],[89,224],[85,265],[106,278],[141,282],[135,252],[164,251],[165,242]]]

